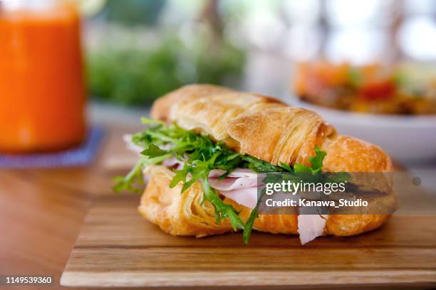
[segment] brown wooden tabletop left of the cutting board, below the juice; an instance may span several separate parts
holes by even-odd
[[[121,136],[139,127],[105,128],[92,166],[0,169],[0,275],[49,275],[55,285],[50,289],[61,288],[59,279],[88,209],[96,197],[112,193],[113,176],[123,173],[111,170],[110,162],[131,157],[125,156]]]

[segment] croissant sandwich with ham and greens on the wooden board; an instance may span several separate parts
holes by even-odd
[[[258,213],[256,173],[390,172],[378,146],[341,136],[318,114],[271,97],[213,85],[187,85],[157,100],[147,129],[130,136],[141,157],[115,190],[137,190],[139,212],[170,235],[204,237],[252,229],[300,235],[351,236],[380,227],[388,214]],[[321,168],[322,166],[322,168]]]

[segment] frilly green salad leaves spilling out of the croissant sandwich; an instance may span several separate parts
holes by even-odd
[[[140,187],[137,188],[135,184],[140,183],[142,186],[140,182],[142,180],[142,167],[158,164],[165,159],[175,157],[184,161],[185,165],[183,168],[175,170],[170,187],[174,188],[177,184],[182,183],[183,193],[195,182],[202,183],[204,200],[213,205],[217,224],[228,218],[235,231],[244,230],[245,243],[248,243],[254,220],[258,217],[259,204],[264,193],[261,194],[249,219],[244,223],[237,210],[232,205],[224,203],[217,190],[210,186],[208,181],[210,171],[213,169],[225,171],[220,178],[224,178],[236,168],[249,168],[256,173],[307,172],[317,174],[321,172],[323,159],[326,156],[325,152],[316,147],[316,155],[308,159],[311,162],[311,167],[295,164],[292,168],[286,163],[276,166],[254,156],[236,153],[222,141],[212,141],[209,136],[202,136],[194,131],[182,129],[177,124],[167,126],[160,121],[145,118],[142,119],[142,123],[147,124],[147,128],[132,136],[133,143],[144,148],[141,152],[142,157],[127,176],[115,178],[114,190],[116,192],[122,190],[140,192]]]

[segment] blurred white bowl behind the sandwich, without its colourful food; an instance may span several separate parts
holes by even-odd
[[[293,104],[317,112],[339,133],[377,144],[400,161],[436,159],[436,116],[359,114],[295,99]]]

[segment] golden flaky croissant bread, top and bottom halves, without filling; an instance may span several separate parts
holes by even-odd
[[[222,141],[234,152],[279,166],[310,166],[318,147],[326,152],[323,171],[390,172],[392,162],[378,146],[337,134],[318,114],[290,107],[271,97],[237,92],[213,85],[188,85],[158,99],[154,119],[177,124],[213,141]],[[146,166],[147,187],[139,212],[170,235],[217,235],[234,230],[229,219],[217,223],[212,203],[204,202],[204,188],[196,181],[183,193],[182,182],[172,185],[175,172],[162,163]],[[220,194],[246,221],[251,208]],[[319,235],[351,236],[374,230],[388,214],[328,215]],[[300,227],[300,228],[299,228]],[[254,230],[301,234],[299,215],[259,215]]]

